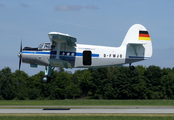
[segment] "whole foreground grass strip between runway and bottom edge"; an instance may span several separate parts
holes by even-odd
[[[172,120],[173,116],[148,116],[148,115],[0,115],[1,120]]]

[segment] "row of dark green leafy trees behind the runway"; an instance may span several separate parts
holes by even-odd
[[[0,71],[0,100],[41,99],[174,99],[174,68],[158,66],[106,67],[54,71],[50,83],[44,72],[28,76],[24,71]]]

